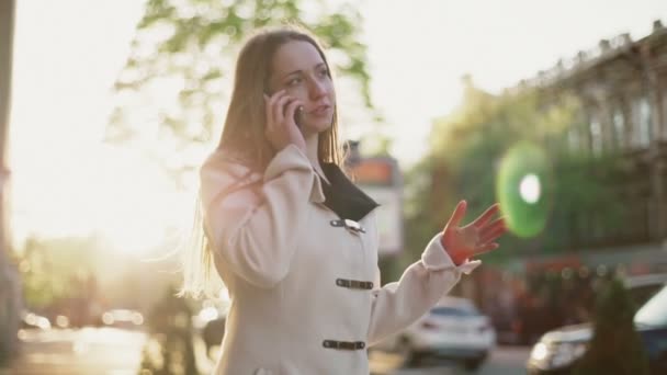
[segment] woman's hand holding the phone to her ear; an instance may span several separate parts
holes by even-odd
[[[272,96],[264,94],[264,102],[267,104],[264,135],[273,148],[280,151],[290,144],[294,144],[305,152],[306,141],[294,122],[294,113],[303,103],[286,94],[285,90],[280,90]]]

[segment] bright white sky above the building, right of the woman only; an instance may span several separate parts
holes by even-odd
[[[366,1],[363,13],[373,99],[388,120],[395,155],[419,158],[432,120],[462,93],[461,77],[490,92],[515,86],[602,38],[640,38],[667,25],[665,0]]]

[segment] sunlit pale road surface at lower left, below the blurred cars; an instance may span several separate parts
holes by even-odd
[[[23,330],[12,375],[136,374],[146,334],[115,328]]]

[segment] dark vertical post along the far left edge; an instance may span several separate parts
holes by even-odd
[[[16,265],[9,257],[7,144],[12,88],[14,0],[0,0],[0,365],[18,352],[21,292]]]

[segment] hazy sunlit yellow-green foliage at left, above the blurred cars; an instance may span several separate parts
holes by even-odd
[[[180,280],[176,273],[177,259],[124,253],[94,235],[31,237],[14,251],[14,258],[25,307],[68,315],[72,323],[99,319],[98,315],[105,308],[146,312],[161,297],[152,291]]]

